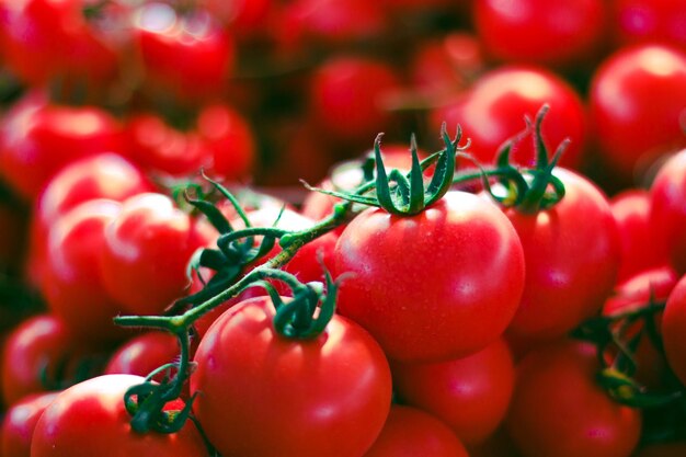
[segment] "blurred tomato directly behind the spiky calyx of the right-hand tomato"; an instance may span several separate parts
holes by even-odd
[[[482,163],[492,163],[500,146],[522,130],[524,116],[534,118],[545,104],[550,112],[542,135],[557,147],[563,139],[571,144],[560,164],[579,168],[586,140],[586,117],[579,94],[556,75],[534,67],[504,66],[492,70],[455,102],[433,110],[430,124],[434,132],[447,122],[448,132],[460,125],[471,139],[469,153]],[[536,155],[530,139],[516,144],[514,163],[531,167]]]

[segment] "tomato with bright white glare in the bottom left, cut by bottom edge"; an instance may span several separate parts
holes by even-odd
[[[36,424],[31,456],[207,456],[199,433],[190,422],[172,434],[132,430],[124,393],[142,380],[140,376],[105,375],[60,392]]]

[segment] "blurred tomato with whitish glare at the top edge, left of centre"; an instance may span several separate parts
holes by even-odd
[[[235,43],[207,11],[182,16],[167,3],[150,2],[137,11],[134,27],[151,93],[168,98],[171,91],[180,101],[224,93]]]

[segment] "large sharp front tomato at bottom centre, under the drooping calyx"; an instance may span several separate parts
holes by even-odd
[[[363,455],[390,408],[378,344],[338,315],[312,340],[276,334],[273,317],[268,298],[253,298],[201,341],[191,392],[201,392],[193,408],[207,437],[227,456]]]

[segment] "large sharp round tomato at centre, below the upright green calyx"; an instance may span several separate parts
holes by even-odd
[[[339,312],[371,333],[389,358],[464,356],[493,342],[519,305],[522,245],[498,208],[450,192],[414,216],[369,208],[334,251]]]

